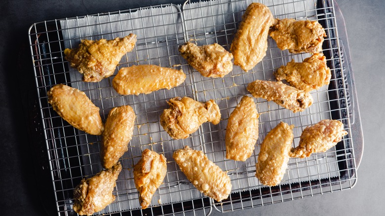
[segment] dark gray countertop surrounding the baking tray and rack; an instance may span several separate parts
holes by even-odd
[[[144,2],[144,3],[143,3]],[[51,203],[52,197],[39,200],[39,193],[52,185],[38,186],[45,179],[36,174],[33,158],[41,154],[33,148],[29,137],[29,92],[35,91],[33,69],[28,47],[31,24],[55,18],[158,3],[178,3],[178,0],[157,1],[91,1],[91,0],[5,0],[1,3],[0,19],[0,206],[2,215],[45,215],[41,203]],[[337,0],[346,21],[352,71],[361,111],[365,149],[358,169],[356,185],[346,191],[324,194],[280,204],[211,215],[383,215],[385,207],[385,4],[382,0]],[[38,165],[39,166],[39,165]],[[52,203],[54,205],[54,203]],[[53,206],[54,207],[54,206]],[[52,208],[48,207],[48,212]],[[54,211],[54,209],[53,209]]]

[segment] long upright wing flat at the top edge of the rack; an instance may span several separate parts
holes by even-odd
[[[251,3],[247,7],[231,42],[234,65],[247,72],[266,56],[269,28],[273,22],[274,18],[266,5]]]

